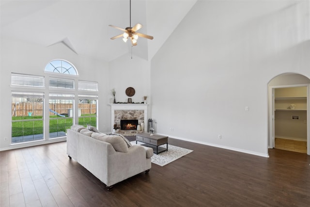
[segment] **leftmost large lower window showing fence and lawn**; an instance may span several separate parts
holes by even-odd
[[[43,93],[12,93],[12,143],[43,140]]]

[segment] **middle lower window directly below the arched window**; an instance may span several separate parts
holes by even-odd
[[[49,138],[66,136],[73,125],[73,94],[49,94]]]

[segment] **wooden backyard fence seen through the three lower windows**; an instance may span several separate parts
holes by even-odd
[[[72,104],[49,104],[49,109],[56,111],[59,114],[68,114],[69,110],[72,109]],[[78,109],[81,110],[82,114],[95,114],[96,104],[78,104]],[[49,111],[49,115],[54,115],[54,112]],[[72,111],[71,111],[72,112]],[[42,116],[43,115],[43,104],[36,102],[26,103],[12,103],[12,116]]]

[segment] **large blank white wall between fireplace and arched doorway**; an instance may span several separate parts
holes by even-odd
[[[198,1],[152,60],[157,132],[267,156],[267,84],[310,77],[309,23],[308,1]]]

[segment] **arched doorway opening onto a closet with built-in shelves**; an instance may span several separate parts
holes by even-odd
[[[310,154],[310,79],[280,74],[268,83],[268,147]]]

